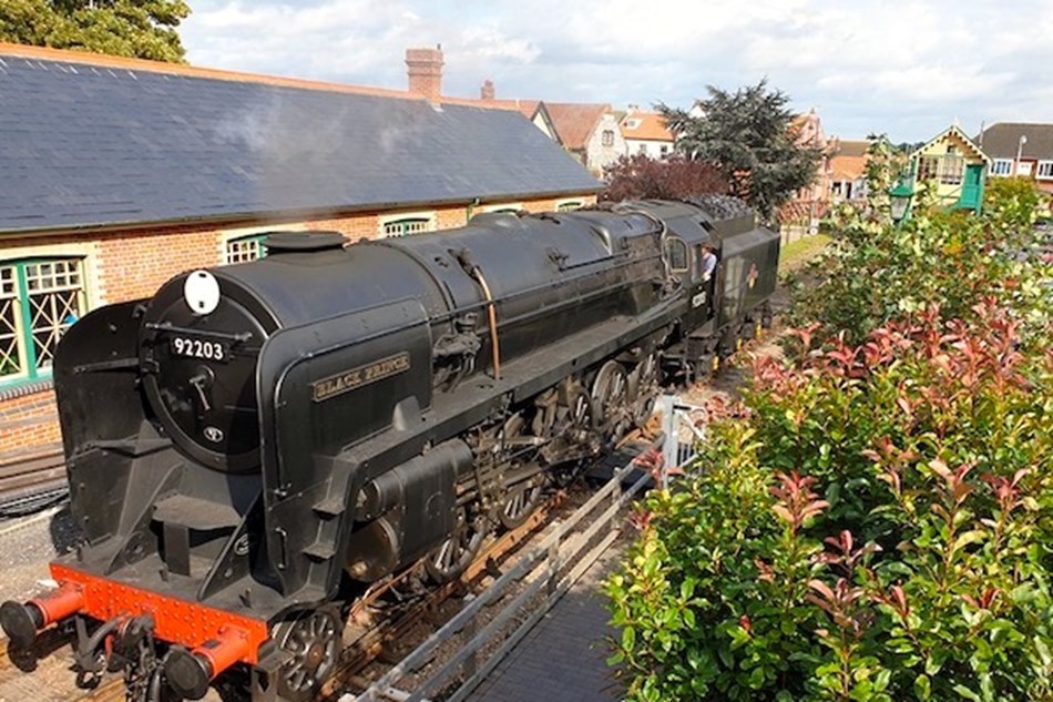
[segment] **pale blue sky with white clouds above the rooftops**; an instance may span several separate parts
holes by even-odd
[[[689,108],[767,79],[828,135],[1053,122],[1053,0],[187,0],[194,65],[446,95]]]

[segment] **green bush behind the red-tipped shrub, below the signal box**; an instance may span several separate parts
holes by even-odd
[[[871,329],[933,305],[945,318],[969,319],[986,296],[1016,309],[1047,301],[1049,291],[1021,262],[1035,241],[1041,202],[1033,183],[992,180],[981,215],[944,211],[922,187],[911,218],[891,226],[886,193],[898,163],[881,143],[875,142],[869,174],[877,194],[865,211],[838,211],[839,235],[804,272],[810,285],[797,286],[793,324],[818,323],[819,337],[858,344]]]

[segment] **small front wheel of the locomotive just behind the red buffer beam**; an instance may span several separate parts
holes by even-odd
[[[301,612],[275,629],[274,640],[292,658],[278,669],[278,695],[288,702],[314,700],[340,657],[340,617],[328,607]]]

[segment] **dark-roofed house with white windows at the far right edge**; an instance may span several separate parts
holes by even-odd
[[[1053,124],[998,122],[975,141],[991,157],[988,175],[1030,177],[1040,190],[1053,194]]]

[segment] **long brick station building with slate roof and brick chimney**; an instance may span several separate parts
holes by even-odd
[[[442,95],[438,49],[381,90],[0,44],[0,465],[58,440],[65,328],[275,228],[350,240],[549,211],[602,185],[519,111]]]

